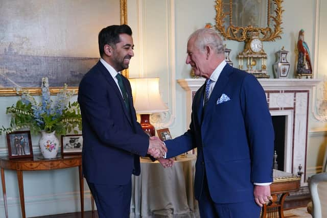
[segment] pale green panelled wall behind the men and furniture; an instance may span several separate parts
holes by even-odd
[[[185,91],[177,84],[177,79],[191,78],[190,67],[185,64],[186,41],[188,36],[205,23],[214,22],[214,0],[128,0],[128,23],[133,29],[135,57],[130,65],[130,77],[159,77],[160,93],[170,108],[167,116],[161,117],[156,126],[169,127],[172,135],[178,136],[187,128],[185,110]],[[318,3],[318,14],[316,14]],[[300,7],[299,7],[300,6]],[[275,42],[264,42],[264,49],[269,56],[268,70],[272,76],[274,53],[285,46],[290,51],[291,75],[294,75],[295,44],[298,31],[306,31],[305,41],[314,56],[317,50],[318,61],[315,77],[323,79],[327,74],[325,63],[327,43],[327,2],[323,0],[286,0],[283,2],[283,35]],[[316,16],[318,15],[318,16]],[[316,27],[316,19],[319,22]],[[109,25],[109,23],[108,23]],[[316,31],[318,28],[319,31]],[[315,33],[318,33],[316,36]],[[317,41],[315,41],[317,39]],[[97,43],[97,42],[95,42]],[[236,61],[236,54],[241,52],[244,42],[226,41],[232,50],[231,59]],[[315,47],[317,46],[317,47]],[[235,62],[236,63],[236,62]],[[0,125],[8,126],[9,117],[5,108],[17,101],[17,97],[0,97]],[[315,101],[313,101],[315,102]],[[322,156],[326,148],[326,124],[318,122],[312,115],[309,120],[309,142],[307,173],[310,176],[319,172]],[[34,152],[38,152],[38,137],[32,139]],[[0,155],[7,154],[4,136],[0,136]],[[320,168],[319,168],[320,167]],[[9,217],[20,217],[16,174],[6,171]],[[75,168],[52,172],[24,173],[26,211],[28,216],[78,211],[78,171]],[[1,186],[1,185],[0,185]],[[1,189],[2,190],[2,187]],[[85,191],[88,193],[87,185]],[[90,209],[86,195],[85,209]],[[2,191],[0,191],[0,218],[4,217]]]

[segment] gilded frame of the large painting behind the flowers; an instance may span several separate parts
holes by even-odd
[[[127,24],[127,0],[120,1],[120,22],[121,24]],[[1,72],[1,69],[0,69]],[[122,74],[128,78],[128,70],[123,70]],[[51,94],[57,94],[63,87],[49,87]],[[40,95],[40,87],[21,87],[20,89],[28,90],[31,95]],[[78,87],[71,86],[68,87],[68,90],[74,90],[75,93],[78,93]],[[16,87],[0,87],[0,96],[15,96],[17,94]]]

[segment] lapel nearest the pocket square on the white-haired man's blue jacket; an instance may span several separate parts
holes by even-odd
[[[229,75],[231,74],[231,72],[232,72],[232,67],[229,64],[226,64],[223,70],[221,71],[221,74],[219,75],[214,90],[210,95],[210,98],[205,107],[205,111],[203,111],[204,114],[203,114],[202,128],[204,128],[205,125],[208,123],[206,122],[206,120],[208,120],[208,118],[211,117],[211,114],[214,111],[214,107],[216,106],[218,99],[223,94],[223,91],[228,83]]]

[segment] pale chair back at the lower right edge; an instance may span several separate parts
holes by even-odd
[[[315,174],[310,178],[310,193],[313,218],[327,218],[327,173]]]

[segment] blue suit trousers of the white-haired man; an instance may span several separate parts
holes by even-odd
[[[204,174],[205,175],[205,174]],[[223,196],[222,196],[223,198]],[[253,201],[229,204],[216,204],[209,193],[206,176],[204,176],[202,193],[199,199],[201,218],[259,218],[261,207]]]

